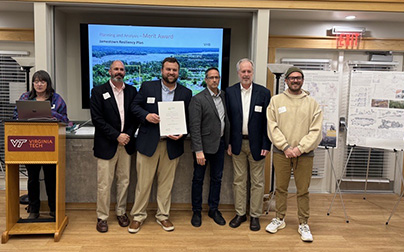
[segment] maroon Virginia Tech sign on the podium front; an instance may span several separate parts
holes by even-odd
[[[55,151],[55,137],[8,136],[8,151]]]

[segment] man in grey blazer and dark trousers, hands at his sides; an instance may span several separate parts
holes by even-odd
[[[205,72],[207,88],[194,96],[189,105],[189,130],[194,151],[194,176],[192,179],[191,223],[202,224],[202,187],[207,162],[210,163],[209,217],[219,225],[226,221],[218,210],[224,165],[224,152],[229,144],[230,124],[226,115],[224,92],[220,91],[219,70],[215,67]]]

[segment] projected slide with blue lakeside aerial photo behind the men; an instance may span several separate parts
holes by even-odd
[[[109,79],[109,66],[121,60],[125,83],[137,89],[161,76],[161,62],[175,57],[181,64],[178,81],[193,94],[205,88],[205,70],[222,69],[223,29],[127,25],[88,25],[90,90]]]

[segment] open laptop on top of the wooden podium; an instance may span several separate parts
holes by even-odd
[[[49,101],[16,101],[16,104],[19,120],[53,120]]]

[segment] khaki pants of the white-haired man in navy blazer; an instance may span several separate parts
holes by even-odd
[[[239,216],[246,214],[247,208],[247,177],[250,165],[250,216],[259,218],[262,214],[264,197],[264,164],[265,158],[255,161],[248,140],[243,139],[239,155],[232,154],[233,160],[233,191],[234,207]]]

